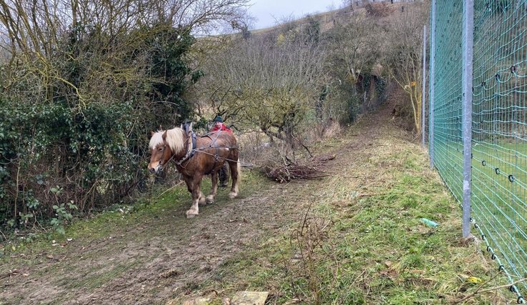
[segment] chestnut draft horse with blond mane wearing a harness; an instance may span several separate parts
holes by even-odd
[[[163,166],[174,160],[176,169],[183,177],[187,189],[192,195],[192,206],[186,211],[186,217],[199,214],[199,204],[214,203],[218,189],[218,171],[229,163],[232,186],[229,198],[238,196],[240,174],[239,147],[236,137],[227,131],[216,131],[204,136],[196,136],[192,125],[185,124],[174,129],[151,132],[149,143],[151,151],[148,166],[151,174],[157,174]],[[201,193],[201,179],[211,174],[212,186],[209,196]]]

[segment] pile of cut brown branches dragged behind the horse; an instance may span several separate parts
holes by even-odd
[[[292,161],[287,156],[280,159],[270,159],[262,167],[262,171],[279,183],[296,179],[315,179],[327,176],[324,167],[327,161],[335,159],[335,155],[316,156],[311,159]]]

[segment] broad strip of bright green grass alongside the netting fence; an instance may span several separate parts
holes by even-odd
[[[490,279],[496,270],[477,245],[461,242],[461,210],[428,169],[426,151],[384,141],[385,149],[361,151],[357,159],[368,161],[341,166],[316,189],[293,186],[311,202],[310,215],[333,224],[311,260],[291,259],[301,249],[292,237],[298,226],[293,224],[227,261],[201,291],[265,290],[271,292],[268,304],[295,299],[301,304],[450,304],[476,289],[466,281],[469,276]],[[361,178],[349,179],[352,175]],[[422,224],[423,217],[438,222],[438,228]],[[487,285],[498,284],[503,279]],[[476,294],[465,304],[513,298],[502,293]]]

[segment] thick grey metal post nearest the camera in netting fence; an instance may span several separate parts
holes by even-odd
[[[471,234],[474,1],[465,0],[463,11],[463,237],[468,237]]]

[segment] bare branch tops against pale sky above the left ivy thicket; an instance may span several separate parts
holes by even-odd
[[[246,16],[248,0],[0,0],[1,34],[11,52],[49,54],[59,36],[79,24],[116,35],[159,22],[208,32]]]

